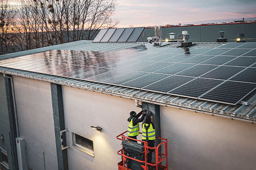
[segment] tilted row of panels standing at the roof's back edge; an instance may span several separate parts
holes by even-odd
[[[93,43],[135,43],[145,27],[102,29],[92,41]]]

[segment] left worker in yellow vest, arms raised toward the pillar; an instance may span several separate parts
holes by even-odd
[[[130,112],[130,117],[127,119],[129,122],[129,127],[127,129],[128,137],[137,139],[137,136],[139,135],[140,126],[139,123],[144,120],[144,117],[146,116],[147,110],[143,110],[140,113],[136,114],[136,112],[132,111]],[[142,116],[141,116],[142,115]],[[139,118],[141,116],[141,118]],[[131,140],[131,139],[128,139]]]

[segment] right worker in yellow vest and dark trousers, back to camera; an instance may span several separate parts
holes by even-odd
[[[149,147],[155,147],[156,131],[155,119],[152,113],[147,114],[145,122],[142,123],[142,141],[147,141]],[[147,162],[151,163],[154,149],[149,149]]]

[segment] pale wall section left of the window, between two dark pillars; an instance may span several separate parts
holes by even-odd
[[[50,83],[13,77],[19,133],[32,169],[58,169]]]

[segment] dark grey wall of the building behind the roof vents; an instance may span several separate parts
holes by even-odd
[[[170,39],[169,33],[176,33],[175,39],[183,30],[187,30],[192,42],[216,42],[220,37],[219,31],[226,31],[225,37],[228,42],[236,42],[238,33],[245,34],[246,42],[256,42],[256,23],[242,23],[242,24],[218,24],[218,25],[199,25],[188,27],[164,27],[162,28],[162,38]],[[143,36],[140,39],[147,41],[148,35],[155,36],[154,28],[145,29]]]

